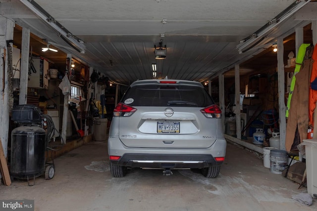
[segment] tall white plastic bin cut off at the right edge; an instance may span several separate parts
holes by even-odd
[[[304,139],[306,154],[307,192],[317,194],[317,139]]]

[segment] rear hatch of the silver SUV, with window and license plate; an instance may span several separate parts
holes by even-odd
[[[114,110],[120,140],[138,148],[210,147],[221,124],[210,95],[197,82],[163,82],[132,84],[127,90]]]

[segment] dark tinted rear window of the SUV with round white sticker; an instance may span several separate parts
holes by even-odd
[[[131,106],[207,107],[214,104],[204,88],[181,84],[135,85],[127,90],[121,102]]]

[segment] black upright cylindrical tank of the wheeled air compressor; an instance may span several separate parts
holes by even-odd
[[[11,132],[10,174],[17,179],[33,179],[45,169],[46,131],[42,127],[21,126]]]

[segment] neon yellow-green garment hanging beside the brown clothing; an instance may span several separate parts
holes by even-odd
[[[288,93],[288,99],[287,99],[287,107],[286,107],[286,114],[285,116],[288,117],[289,114],[289,109],[291,106],[291,99],[292,99],[292,94],[294,91],[295,83],[296,83],[296,74],[300,71],[302,63],[304,61],[305,53],[306,53],[306,48],[310,46],[311,44],[301,44],[301,46],[298,49],[298,53],[296,55],[296,66],[294,70],[294,75],[291,81],[291,88]]]

